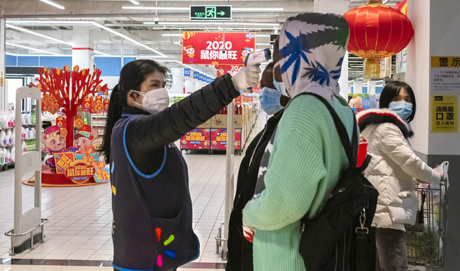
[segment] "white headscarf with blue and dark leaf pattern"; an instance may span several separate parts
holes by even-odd
[[[338,78],[349,38],[343,16],[308,12],[290,17],[279,34],[281,78],[290,97],[338,95]]]

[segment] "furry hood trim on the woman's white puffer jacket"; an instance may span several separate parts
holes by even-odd
[[[412,137],[414,134],[409,125],[398,114],[387,108],[361,111],[356,115],[356,119],[358,119],[358,126],[361,132],[373,124],[393,123],[401,130],[404,137]]]

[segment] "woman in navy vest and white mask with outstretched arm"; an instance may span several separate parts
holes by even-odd
[[[175,270],[196,259],[187,164],[174,141],[257,84],[260,69],[223,75],[169,106],[168,69],[135,60],[120,72],[101,151],[110,165],[114,270]]]

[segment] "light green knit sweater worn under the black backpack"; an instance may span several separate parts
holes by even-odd
[[[330,102],[352,137],[352,110],[341,97]],[[305,270],[299,255],[300,219],[317,213],[348,167],[325,105],[312,95],[295,97],[279,121],[264,176],[265,190],[246,204],[244,224],[255,228],[255,270]],[[312,244],[314,246],[314,244]]]

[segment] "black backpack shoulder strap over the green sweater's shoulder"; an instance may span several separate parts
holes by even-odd
[[[354,117],[354,114],[353,114],[352,143],[350,144],[347,129],[345,128],[345,126],[343,126],[341,119],[338,117],[336,111],[334,110],[334,108],[332,108],[329,102],[327,102],[323,97],[321,97],[320,95],[316,93],[308,92],[308,93],[301,93],[299,95],[312,95],[314,97],[317,97],[317,99],[319,99],[321,102],[323,102],[327,110],[329,110],[329,113],[331,114],[332,119],[334,119],[334,124],[338,132],[338,137],[340,137],[342,145],[343,145],[343,149],[345,150],[345,153],[347,154],[349,165],[356,167],[356,158],[358,156],[358,133],[356,132],[356,117]]]

